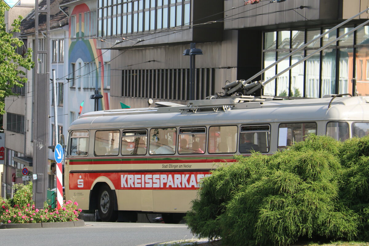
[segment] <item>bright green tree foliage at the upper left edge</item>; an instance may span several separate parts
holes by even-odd
[[[34,66],[31,48],[28,48],[22,55],[16,53],[16,49],[24,45],[23,41],[14,38],[14,34],[20,32],[22,17],[15,19],[11,24],[12,28],[9,28],[11,30],[6,32],[4,14],[7,10],[9,7],[6,3],[0,1],[0,114],[5,113],[4,98],[14,95],[12,87],[23,87],[23,84],[27,82],[24,69],[30,70]]]

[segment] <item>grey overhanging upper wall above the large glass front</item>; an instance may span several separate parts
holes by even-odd
[[[260,1],[243,6],[239,0],[224,1],[224,29],[263,30],[319,27],[341,22],[367,8],[360,0],[294,0],[281,3]],[[303,8],[300,8],[303,6]],[[360,18],[368,18],[362,14]],[[359,18],[358,18],[359,19]]]

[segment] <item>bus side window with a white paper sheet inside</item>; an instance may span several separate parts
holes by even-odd
[[[303,141],[308,134],[317,134],[317,123],[282,123],[279,124],[278,149],[288,148],[294,142]]]

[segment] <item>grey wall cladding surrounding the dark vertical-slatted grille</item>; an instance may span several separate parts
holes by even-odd
[[[238,31],[224,31],[223,41],[196,44],[203,55],[196,56],[196,68],[214,68],[215,92],[220,92],[225,81],[237,79]],[[189,56],[183,56],[189,44],[172,45],[111,52],[111,108],[120,108],[120,101],[132,108],[147,107],[147,98],[122,97],[122,70],[126,69],[188,69]],[[145,63],[148,60],[154,62]],[[135,65],[137,64],[137,65]],[[210,95],[208,95],[210,96]],[[172,101],[186,104],[186,101]]]

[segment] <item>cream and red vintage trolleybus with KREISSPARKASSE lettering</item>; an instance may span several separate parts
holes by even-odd
[[[342,141],[369,132],[369,97],[211,98],[81,115],[69,128],[66,199],[103,221],[120,212],[175,223],[201,179],[234,155],[272,154],[310,133]]]

